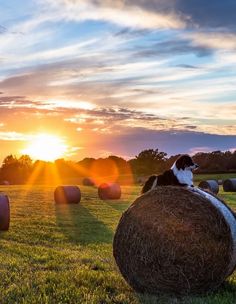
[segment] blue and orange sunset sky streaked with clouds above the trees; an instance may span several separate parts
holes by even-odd
[[[0,0],[0,160],[40,134],[72,160],[234,151],[235,11],[234,0]]]

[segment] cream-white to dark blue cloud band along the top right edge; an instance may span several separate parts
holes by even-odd
[[[45,0],[68,19],[105,20],[137,28],[224,29],[235,32],[234,0]],[[89,10],[89,12],[88,12]]]

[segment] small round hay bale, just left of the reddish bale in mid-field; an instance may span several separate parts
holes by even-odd
[[[78,204],[81,192],[77,186],[58,186],[54,191],[54,200],[57,204]]]

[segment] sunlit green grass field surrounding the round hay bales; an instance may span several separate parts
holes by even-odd
[[[81,187],[80,205],[55,206],[54,187],[1,186],[11,202],[11,225],[0,233],[0,303],[236,303],[236,276],[205,297],[136,294],[112,256],[121,213],[140,192],[123,187],[120,201],[101,201]],[[221,193],[222,194],[222,193]],[[236,208],[236,193],[222,194]]]

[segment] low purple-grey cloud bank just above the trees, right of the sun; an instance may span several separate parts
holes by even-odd
[[[228,150],[234,147],[233,142],[235,140],[236,136],[211,135],[202,132],[151,131],[144,128],[126,128],[116,136],[107,134],[106,137],[100,137],[99,142],[96,143],[96,151],[108,150],[111,154],[133,157],[144,149],[158,148],[160,151],[167,152],[168,155],[175,155],[193,153],[193,147],[207,147],[208,151]],[[87,149],[89,149],[89,146],[87,146]],[[204,151],[206,151],[205,149]],[[199,152],[201,149],[196,149],[196,151]]]

